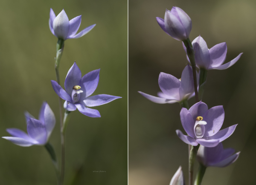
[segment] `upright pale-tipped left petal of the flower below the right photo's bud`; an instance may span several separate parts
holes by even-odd
[[[195,63],[199,68],[208,69],[210,65],[210,55],[207,47],[207,43],[199,36],[192,42],[192,46],[195,54]]]

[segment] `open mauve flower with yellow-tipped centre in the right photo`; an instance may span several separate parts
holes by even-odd
[[[191,108],[182,108],[180,111],[181,124],[188,134],[184,135],[176,130],[178,137],[185,143],[193,146],[200,145],[215,147],[219,142],[230,137],[236,129],[232,125],[220,131],[224,121],[223,106],[215,106],[208,110],[204,102],[198,102]]]

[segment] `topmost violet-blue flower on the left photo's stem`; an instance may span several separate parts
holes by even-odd
[[[77,39],[87,34],[96,25],[93,24],[91,26],[88,26],[87,28],[76,34],[80,27],[80,24],[81,15],[69,21],[64,9],[61,11],[61,13],[57,15],[57,17],[55,16],[54,11],[50,9],[49,27],[55,37],[63,40]]]

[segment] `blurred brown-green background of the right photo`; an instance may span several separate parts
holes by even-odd
[[[129,184],[168,185],[179,165],[188,183],[188,146],[175,133],[184,133],[180,105],[153,103],[137,92],[156,96],[160,72],[180,78],[187,63],[181,42],[156,21],[172,6],[191,17],[191,41],[201,34],[208,48],[226,42],[227,62],[244,52],[232,67],[208,72],[203,101],[209,108],[224,106],[222,128],[239,124],[223,145],[241,154],[226,168],[207,168],[202,185],[256,184],[254,0],[129,0]]]

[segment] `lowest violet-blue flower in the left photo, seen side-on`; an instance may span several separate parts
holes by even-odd
[[[47,102],[44,102],[39,112],[39,120],[25,112],[27,132],[17,128],[8,128],[6,131],[13,137],[2,137],[15,145],[27,147],[32,145],[45,145],[55,126],[55,116]]]

